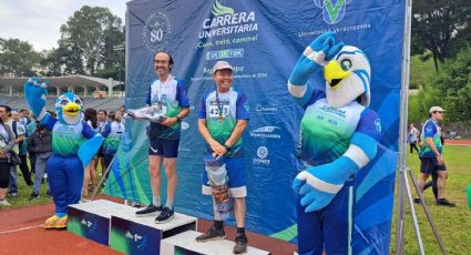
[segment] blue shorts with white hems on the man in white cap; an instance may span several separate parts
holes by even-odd
[[[227,175],[229,176],[229,194],[232,197],[246,197],[247,187],[245,183],[245,164],[244,157],[223,157],[226,164]],[[206,169],[203,169],[203,185],[202,193],[204,195],[213,195],[212,188],[208,185]]]

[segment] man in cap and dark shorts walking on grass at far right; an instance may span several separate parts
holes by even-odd
[[[422,126],[422,141],[424,145],[421,147],[420,157],[420,176],[419,190],[423,193],[427,178],[437,173],[437,205],[454,206],[453,203],[444,198],[444,186],[447,180],[447,166],[443,160],[443,144],[441,143],[440,129],[438,122],[443,120],[444,110],[440,106],[432,106],[429,110],[430,119]],[[416,203],[420,203],[420,198],[414,198]]]

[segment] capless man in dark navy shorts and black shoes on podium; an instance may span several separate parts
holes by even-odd
[[[149,88],[147,105],[158,109],[163,118],[151,122],[147,128],[149,173],[152,187],[152,203],[137,211],[136,216],[157,215],[155,223],[166,223],[174,218],[173,200],[176,190],[176,157],[178,154],[181,121],[190,114],[190,102],[182,81],[172,74],[173,59],[165,52],[154,55],[154,68],[158,75]],[[161,165],[164,163],[167,177],[165,206],[161,202]]]

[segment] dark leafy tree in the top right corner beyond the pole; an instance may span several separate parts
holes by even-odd
[[[471,38],[469,0],[416,0],[412,4],[412,54],[443,63],[467,45]]]

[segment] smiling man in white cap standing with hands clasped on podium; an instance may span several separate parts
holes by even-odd
[[[242,155],[242,134],[248,122],[248,102],[245,94],[232,88],[233,68],[226,61],[217,61],[213,68],[216,90],[203,99],[198,112],[198,130],[206,141],[206,157],[222,161],[228,176],[228,192],[234,197],[234,214],[237,223],[234,254],[247,251],[245,235],[245,184],[244,157]],[[214,194],[208,185],[211,176],[203,173],[203,194]],[[213,200],[214,201],[214,200]],[[214,202],[216,203],[216,202]],[[223,217],[214,204],[214,225],[196,237],[197,242],[224,238]]]

